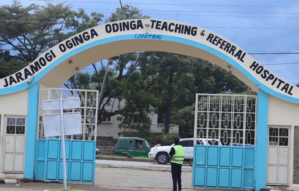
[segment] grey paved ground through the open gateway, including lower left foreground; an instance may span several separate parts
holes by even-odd
[[[86,191],[170,191],[172,189],[170,165],[107,160],[96,160],[96,163],[95,184],[67,183],[68,187]],[[120,165],[120,163],[126,164]],[[152,167],[152,165],[158,167]],[[184,191],[194,191],[192,169],[189,169],[191,166],[184,165],[183,167],[182,188]],[[63,187],[62,182],[49,184],[32,182],[20,184],[19,187],[15,185],[0,184],[0,191],[42,191]]]

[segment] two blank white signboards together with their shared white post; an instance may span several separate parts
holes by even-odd
[[[58,100],[43,101],[43,111],[57,110],[57,109],[60,110],[60,114],[43,115],[43,120],[44,120],[45,137],[61,136],[64,190],[67,190],[66,154],[65,154],[64,135],[65,132],[67,132],[66,133],[67,135],[82,134],[81,113],[80,112],[63,113],[63,109],[72,109],[72,108],[80,108],[80,98],[62,99],[62,96],[60,96],[59,101]],[[58,115],[60,115],[60,118],[57,118]]]

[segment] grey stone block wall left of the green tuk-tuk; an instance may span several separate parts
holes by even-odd
[[[114,155],[114,146],[116,145],[118,139],[113,139],[113,137],[97,136],[98,149],[101,149],[104,155]]]

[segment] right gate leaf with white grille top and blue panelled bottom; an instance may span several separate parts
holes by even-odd
[[[192,187],[255,189],[256,100],[196,94]]]

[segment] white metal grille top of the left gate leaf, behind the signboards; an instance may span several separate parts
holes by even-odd
[[[60,113],[59,110],[43,111],[43,100],[56,100],[62,95],[63,99],[79,97],[81,107],[78,109],[66,109],[64,112],[81,112],[82,135],[68,135],[65,139],[96,140],[97,120],[98,120],[98,91],[78,90],[63,88],[40,89],[39,99],[39,119],[38,119],[38,139],[45,139],[43,132],[43,114]],[[95,115],[96,114],[96,115]],[[95,117],[94,117],[95,116]],[[60,139],[60,136],[53,137]]]

